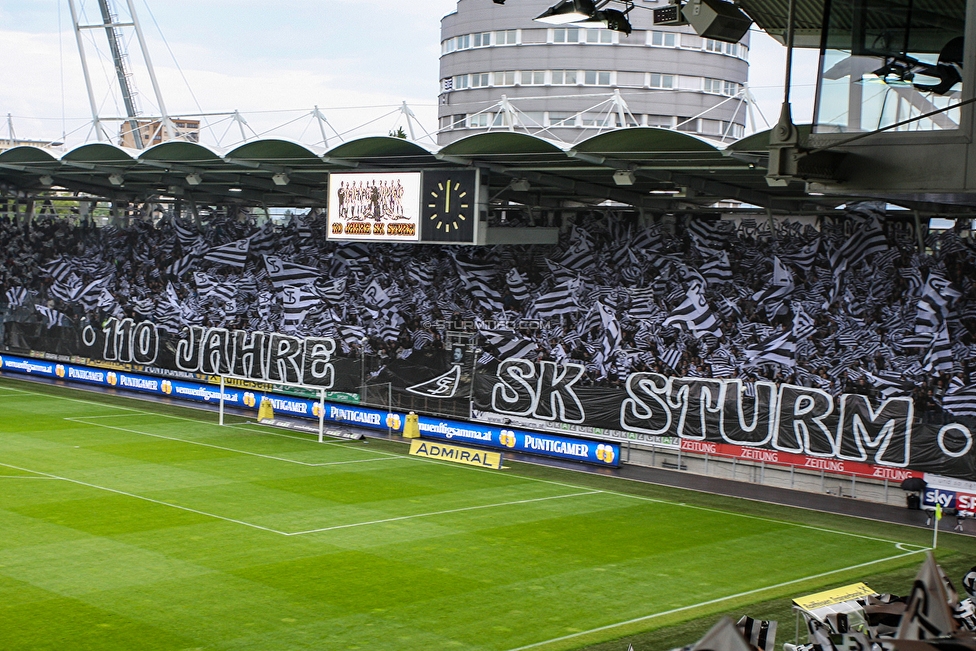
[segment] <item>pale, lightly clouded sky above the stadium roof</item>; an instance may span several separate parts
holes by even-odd
[[[422,127],[436,128],[440,18],[454,10],[456,0],[131,2],[168,113],[223,114],[203,118],[207,144],[233,146],[244,128],[249,137],[256,133],[322,146],[320,123],[312,118],[315,106],[328,121],[321,126],[332,146],[339,142],[336,132],[348,140],[405,126],[398,112],[404,101]],[[115,4],[126,18],[126,0]],[[75,5],[83,23],[101,22],[96,0],[75,0]],[[85,34],[99,112],[123,115],[103,33]],[[123,34],[137,105],[143,114],[158,114],[134,32]],[[774,123],[785,50],[755,28],[752,41],[750,87],[760,111]],[[812,113],[814,54],[800,52],[794,67],[798,123],[808,122]],[[68,144],[93,139],[68,0],[3,0],[0,61],[0,137],[9,135],[9,114],[17,138]],[[227,115],[234,111],[246,125]],[[759,126],[764,127],[761,120]],[[423,130],[415,134],[420,138]]]

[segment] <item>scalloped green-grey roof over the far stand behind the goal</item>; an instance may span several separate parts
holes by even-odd
[[[678,201],[707,206],[738,200],[795,212],[844,202],[809,196],[803,184],[769,188],[768,140],[764,132],[722,149],[686,133],[638,127],[573,146],[509,131],[473,135],[439,150],[391,137],[321,151],[273,139],[226,152],[182,141],[143,151],[92,143],[60,158],[22,146],[0,153],[0,192],[44,196],[61,188],[111,201],[172,197],[198,204],[316,207],[326,204],[332,172],[476,166],[490,171],[493,199],[541,207],[611,201],[670,209]],[[513,188],[515,180],[528,181],[529,189],[524,182]]]

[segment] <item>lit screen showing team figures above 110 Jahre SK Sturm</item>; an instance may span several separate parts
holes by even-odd
[[[420,173],[329,175],[329,239],[416,242]]]

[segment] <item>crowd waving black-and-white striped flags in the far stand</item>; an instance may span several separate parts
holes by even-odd
[[[587,384],[617,386],[636,371],[769,379],[835,395],[911,395],[930,415],[941,413],[947,392],[976,383],[976,247],[966,233],[929,234],[920,251],[911,229],[870,210],[817,228],[691,216],[647,224],[613,212],[571,221],[557,245],[449,247],[331,242],[320,214],[276,227],[239,212],[202,225],[164,216],[99,228],[55,215],[29,225],[3,218],[0,296],[7,320],[48,327],[117,316],[173,332],[188,324],[285,330],[335,336],[345,354],[381,358],[468,330],[481,336],[482,363],[506,352],[576,361]],[[885,250],[840,266],[832,253],[871,228]],[[208,259],[208,250],[245,239],[243,266]],[[727,268],[701,271],[719,251]],[[297,294],[306,309],[291,322],[264,256],[316,270]],[[789,291],[770,304],[763,290],[781,260]],[[909,341],[933,277],[943,280],[937,317],[951,346],[934,359],[931,345]],[[669,319],[696,287],[714,316],[708,332]],[[560,292],[558,307],[542,306]],[[800,313],[808,331],[785,358],[757,353],[795,331]]]

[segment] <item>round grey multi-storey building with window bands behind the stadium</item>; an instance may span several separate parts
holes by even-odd
[[[742,137],[748,35],[655,27],[663,3],[648,0],[630,35],[534,21],[552,2],[459,0],[441,20],[439,144],[509,129],[574,143],[621,126]]]

